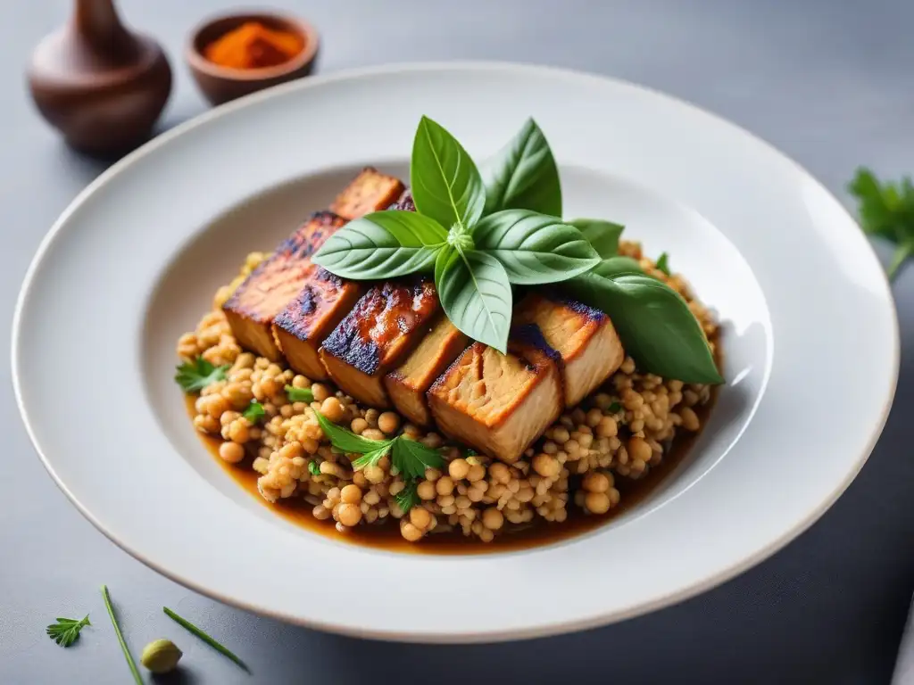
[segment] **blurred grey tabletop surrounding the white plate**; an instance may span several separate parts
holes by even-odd
[[[842,197],[857,164],[887,175],[914,171],[910,0],[275,4],[320,27],[323,72],[448,58],[586,69],[666,90],[728,117],[792,155]],[[122,15],[158,37],[172,56],[176,84],[163,127],[204,111],[181,62],[183,43],[192,25],[226,3],[121,5]],[[23,87],[30,47],[68,14],[64,0],[0,5],[4,360],[28,260],[55,217],[104,168],[58,142]],[[154,574],[95,531],[54,487],[20,424],[4,361],[0,683],[129,682],[101,606],[101,583],[111,587],[134,651],[160,636],[175,637],[186,649],[184,675],[174,682],[887,682],[914,590],[914,422],[906,420],[914,406],[914,269],[901,275],[895,292],[903,342],[895,407],[866,468],[820,522],[768,562],[680,606],[584,634],[509,645],[421,647],[338,638],[221,606]],[[67,364],[78,363],[48,360],[59,366],[62,383]],[[100,380],[116,392],[116,369],[100,370]],[[790,437],[772,437],[772,448],[783,439]],[[772,489],[772,506],[778,476],[759,484]],[[329,592],[383,592],[371,585],[370,570],[358,588],[335,587],[332,576],[317,570],[302,574],[304,583]],[[269,568],[263,577],[269,582]],[[530,601],[556,601],[557,585],[558,596],[601,592],[570,578],[544,578],[543,596]],[[163,604],[237,648],[254,676],[183,634],[162,616]],[[446,588],[428,610],[447,613]],[[83,632],[78,647],[60,649],[43,635],[53,617],[87,611],[95,627]]]

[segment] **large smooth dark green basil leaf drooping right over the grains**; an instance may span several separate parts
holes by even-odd
[[[587,273],[565,287],[606,312],[625,351],[644,371],[684,383],[723,383],[695,315],[662,281],[644,274]]]

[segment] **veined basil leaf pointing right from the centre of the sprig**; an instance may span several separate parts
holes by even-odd
[[[498,259],[508,280],[517,285],[567,280],[600,262],[577,228],[529,209],[485,216],[473,228],[473,242],[476,249]]]

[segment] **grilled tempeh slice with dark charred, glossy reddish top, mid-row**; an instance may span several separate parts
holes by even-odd
[[[321,347],[335,384],[359,402],[390,406],[383,379],[429,332],[441,306],[430,279],[389,280],[368,290]]]

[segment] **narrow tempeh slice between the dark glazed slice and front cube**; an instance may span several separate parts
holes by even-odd
[[[390,401],[400,414],[418,426],[431,423],[425,393],[469,343],[446,316],[438,318],[406,361],[384,378]]]

